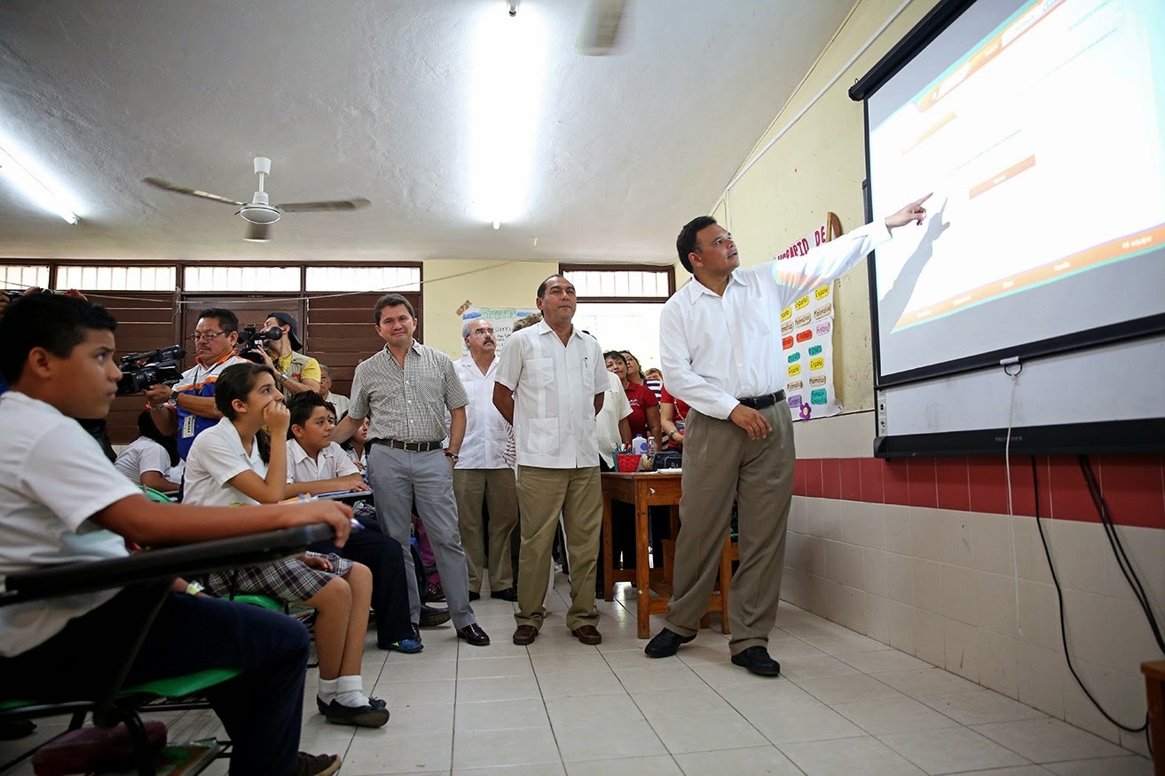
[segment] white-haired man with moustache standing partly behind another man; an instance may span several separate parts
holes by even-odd
[[[465,405],[465,438],[453,468],[453,495],[461,527],[461,546],[469,570],[469,600],[481,595],[481,571],[486,565],[481,505],[489,507],[489,598],[517,600],[510,536],[517,525],[517,491],[514,484],[514,430],[494,407],[494,373],[497,340],[494,326],[476,318],[461,325],[469,348],[457,362],[469,403]]]

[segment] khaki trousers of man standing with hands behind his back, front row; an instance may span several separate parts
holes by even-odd
[[[558,515],[566,531],[566,552],[571,559],[571,608],[566,627],[571,630],[599,622],[594,608],[594,583],[599,567],[599,538],[602,534],[602,485],[599,467],[541,468],[517,467],[517,503],[521,513],[522,549],[517,563],[517,606],[514,619],[520,626],[542,628],[542,604],[550,578],[550,553],[555,545]]]

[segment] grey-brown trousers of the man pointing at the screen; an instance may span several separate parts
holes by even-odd
[[[764,439],[749,439],[732,421],[696,410],[689,411],[684,429],[680,525],[668,628],[682,636],[699,629],[720,567],[735,494],[740,567],[728,590],[728,649],[733,655],[769,643],[785,565],[785,529],[793,493],[792,419],[784,402],[761,412],[772,424]]]

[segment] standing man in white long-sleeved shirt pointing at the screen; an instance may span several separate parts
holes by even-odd
[[[676,249],[694,277],[663,308],[659,352],[668,391],[691,409],[684,430],[673,595],[666,627],[644,650],[649,657],[675,655],[696,637],[735,495],[740,569],[728,595],[732,662],[761,676],[781,672],[768,651],[793,489],[781,311],[848,271],[888,241],[890,230],[922,224],[927,197],[805,256],[748,269],[740,269],[736,245],[715,219],[701,216],[680,231]]]

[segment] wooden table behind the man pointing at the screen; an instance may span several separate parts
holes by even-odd
[[[640,639],[651,635],[650,616],[668,611],[671,585],[664,580],[663,569],[651,569],[648,564],[648,507],[670,507],[671,524],[679,524],[677,517],[680,496],[680,474],[636,472],[603,472],[602,474],[602,580],[603,598],[612,600],[616,581],[635,583],[638,593],[636,622]],[[612,566],[613,552],[610,521],[613,501],[622,501],[635,507],[635,569],[619,570]],[[675,536],[675,534],[673,534]],[[720,590],[713,592],[708,601],[709,612],[720,612],[723,633],[728,633],[728,583],[732,580],[732,538],[725,536],[725,551],[720,556]],[[659,593],[651,598],[651,592]]]

